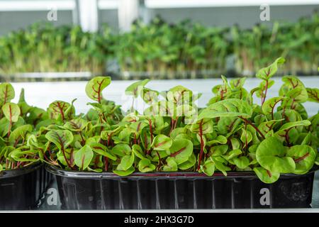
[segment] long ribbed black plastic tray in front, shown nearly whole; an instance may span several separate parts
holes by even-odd
[[[253,172],[134,173],[75,172],[47,166],[54,174],[62,209],[249,209],[309,208],[313,169],[306,175],[281,175],[264,184]]]

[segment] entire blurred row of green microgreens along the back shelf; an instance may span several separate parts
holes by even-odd
[[[108,26],[86,33],[79,26],[35,23],[0,38],[0,74],[114,71],[135,79],[213,77],[230,70],[230,56],[235,56],[238,76],[254,75],[272,56],[286,58],[281,74],[317,74],[318,37],[319,13],[296,23],[274,21],[272,28],[257,24],[251,29],[155,18],[149,24],[136,21],[126,33]],[[106,67],[112,62],[119,71]]]

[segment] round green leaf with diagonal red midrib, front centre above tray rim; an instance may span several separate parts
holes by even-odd
[[[174,157],[177,165],[180,165],[186,162],[193,153],[193,143],[186,139],[173,140],[169,152],[170,156]]]

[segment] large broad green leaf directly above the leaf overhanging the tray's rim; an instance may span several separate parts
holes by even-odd
[[[256,151],[257,161],[270,172],[289,173],[295,170],[295,162],[285,155],[286,148],[274,137],[263,140]]]

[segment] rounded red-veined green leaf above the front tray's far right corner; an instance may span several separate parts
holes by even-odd
[[[294,145],[287,151],[287,156],[296,162],[296,170],[293,173],[303,175],[308,172],[315,163],[317,153],[308,145]]]

